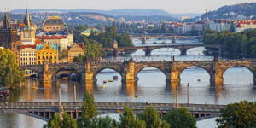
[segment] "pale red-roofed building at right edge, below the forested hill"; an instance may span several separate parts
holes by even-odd
[[[238,20],[235,23],[236,32],[256,29],[256,20]]]

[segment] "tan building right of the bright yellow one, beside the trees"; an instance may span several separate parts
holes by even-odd
[[[83,44],[73,44],[68,48],[68,62],[73,62],[73,58],[79,55],[84,55]]]

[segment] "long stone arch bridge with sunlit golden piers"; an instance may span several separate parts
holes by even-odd
[[[137,74],[145,67],[155,67],[166,75],[166,83],[171,86],[180,84],[180,74],[188,67],[201,67],[210,75],[212,85],[223,84],[224,72],[230,67],[247,67],[253,73],[253,82],[256,83],[256,61],[150,61],[150,62],[84,62],[84,63],[60,63],[33,66],[20,66],[21,70],[32,70],[38,73],[42,82],[55,80],[56,74],[61,70],[73,71],[81,76],[82,82],[95,82],[97,73],[110,68],[121,75],[124,84],[136,82]]]

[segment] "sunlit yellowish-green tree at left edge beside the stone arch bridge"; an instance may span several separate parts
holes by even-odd
[[[23,73],[15,58],[11,50],[0,49],[0,86],[17,85],[23,80]]]

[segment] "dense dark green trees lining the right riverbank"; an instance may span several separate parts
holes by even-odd
[[[216,32],[207,29],[204,35],[205,44],[220,44],[228,57],[237,55],[256,55],[256,30],[247,32]]]

